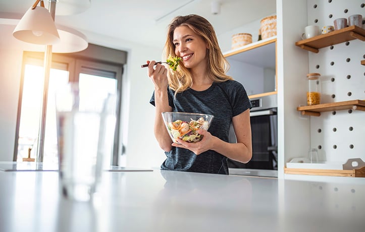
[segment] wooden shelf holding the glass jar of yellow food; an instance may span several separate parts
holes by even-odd
[[[365,100],[350,100],[340,101],[333,103],[324,103],[318,105],[305,105],[297,107],[298,111],[301,111],[303,115],[320,116],[320,112],[354,109],[365,111]]]

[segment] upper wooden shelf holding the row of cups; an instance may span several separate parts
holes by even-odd
[[[309,39],[297,41],[295,45],[302,49],[318,53],[320,48],[354,39],[365,41],[365,30],[361,27],[350,26],[324,35],[318,35]]]

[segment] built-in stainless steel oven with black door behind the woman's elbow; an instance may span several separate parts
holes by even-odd
[[[252,158],[248,163],[228,159],[230,175],[262,177],[278,176],[278,119],[277,95],[250,99],[250,122],[252,132]],[[236,142],[231,128],[230,139]]]

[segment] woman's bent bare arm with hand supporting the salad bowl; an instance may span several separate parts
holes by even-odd
[[[203,139],[200,142],[188,143],[178,139],[178,142],[181,144],[174,143],[173,146],[189,149],[196,155],[207,150],[214,150],[230,159],[247,163],[252,157],[250,110],[247,109],[233,117],[232,123],[237,143],[228,143],[212,136],[207,131],[198,130],[198,133],[203,135]]]

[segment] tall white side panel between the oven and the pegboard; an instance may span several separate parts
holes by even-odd
[[[306,96],[308,53],[295,46],[306,25],[306,0],[277,0],[278,177],[284,165],[309,148],[309,122],[296,107]],[[285,36],[284,36],[285,35]]]

